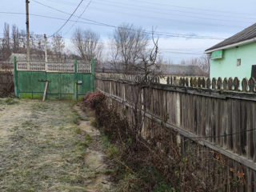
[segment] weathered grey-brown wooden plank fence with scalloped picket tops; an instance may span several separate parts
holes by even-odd
[[[125,74],[96,74],[95,87],[106,94],[108,104],[120,114],[132,108],[138,77]],[[222,177],[213,178],[219,191],[256,191],[256,82],[238,78],[166,77],[166,84],[156,78],[152,95],[144,88],[141,99],[151,97],[146,109],[144,136],[150,140],[155,130],[146,130],[150,122],[163,124],[178,133],[178,141],[189,139],[202,156],[219,153],[226,158]],[[148,92],[149,93],[149,92]],[[127,113],[132,121],[132,112]],[[182,145],[182,150],[194,144]],[[201,152],[200,152],[201,151]],[[200,156],[199,155],[199,156]],[[218,172],[215,162],[202,166],[203,175]],[[234,172],[234,170],[236,172]],[[233,178],[243,177],[244,185],[234,187]],[[202,177],[203,178],[203,177]],[[216,180],[217,179],[217,180]],[[207,182],[207,181],[206,181]],[[208,181],[209,182],[209,181]],[[223,190],[225,189],[225,190]]]

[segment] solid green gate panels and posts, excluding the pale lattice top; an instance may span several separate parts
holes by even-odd
[[[48,81],[46,98],[81,99],[88,91],[94,91],[94,62],[91,74],[78,74],[77,69],[75,61],[75,73],[17,70],[14,58],[15,95],[20,98],[42,98]]]

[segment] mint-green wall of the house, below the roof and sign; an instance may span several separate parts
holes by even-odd
[[[241,58],[241,66],[237,59]],[[251,67],[256,65],[256,42],[223,50],[223,57],[210,60],[210,78],[250,78]]]

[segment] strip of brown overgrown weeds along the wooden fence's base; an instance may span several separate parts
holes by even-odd
[[[121,118],[115,111],[114,108],[108,109],[105,102],[96,107],[98,128],[103,133],[102,142],[114,165],[115,171],[111,176],[117,183],[117,191],[215,192],[225,187],[209,182],[214,179],[226,182],[222,178],[223,170],[229,166],[224,157],[209,151],[206,157],[206,151],[189,139],[182,144],[186,145],[182,154],[177,133],[157,122],[147,124],[147,131],[154,133],[154,137],[149,136],[148,142],[135,133],[125,115]],[[206,163],[215,166],[203,167]],[[238,175],[236,180],[240,182],[230,180],[235,187],[243,185],[241,173],[242,170],[238,173],[234,171],[234,175]],[[235,190],[235,187],[232,189]]]

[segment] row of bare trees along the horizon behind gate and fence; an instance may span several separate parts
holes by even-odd
[[[152,61],[157,63],[159,68],[163,67],[161,64],[169,63],[159,54],[158,38],[154,39],[154,30],[150,34],[142,27],[132,24],[124,23],[113,31],[107,46],[109,51],[104,55],[104,60],[107,62],[102,62],[104,43],[100,35],[94,31],[77,28],[74,30],[71,42],[74,50],[70,51],[67,49],[62,35],[55,34],[46,42],[47,54],[54,55],[54,58],[81,58],[85,61],[95,59],[98,67],[119,71],[144,70],[145,66],[143,65],[146,63],[147,67],[152,67],[150,66]],[[0,61],[9,58],[12,53],[26,54],[26,31],[5,23],[3,37],[0,39]],[[44,57],[45,40],[43,35],[30,33],[30,54]],[[108,66],[103,66],[104,63],[108,63]],[[208,56],[182,60],[181,65],[200,66],[206,73],[209,73],[210,70]]]

